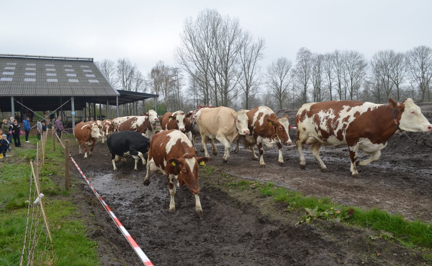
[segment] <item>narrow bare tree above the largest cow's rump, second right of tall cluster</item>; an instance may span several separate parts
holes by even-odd
[[[297,87],[297,96],[300,103],[308,102],[308,85],[311,79],[311,62],[312,53],[307,48],[302,47],[297,52],[295,58],[295,83]]]

